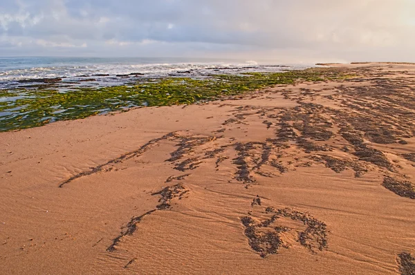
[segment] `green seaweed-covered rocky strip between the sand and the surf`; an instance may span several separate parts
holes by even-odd
[[[73,87],[65,92],[40,87],[0,90],[0,131],[26,129],[138,106],[206,102],[277,84],[326,81],[341,75],[340,71],[313,68],[283,73],[212,75],[206,79],[147,79],[130,86]]]

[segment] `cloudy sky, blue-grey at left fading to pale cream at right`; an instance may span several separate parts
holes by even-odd
[[[0,0],[0,56],[415,61],[415,0]]]

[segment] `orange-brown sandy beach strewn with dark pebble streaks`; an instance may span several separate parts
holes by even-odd
[[[0,274],[414,274],[415,65],[333,70],[0,133]]]

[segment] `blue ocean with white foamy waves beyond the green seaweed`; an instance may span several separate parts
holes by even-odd
[[[83,57],[0,57],[0,88],[14,88],[24,79],[63,78],[76,82],[93,77],[100,86],[118,84],[117,76],[140,73],[147,78],[250,72],[280,72],[302,69],[313,64],[261,64],[234,59],[185,58],[83,58]],[[20,82],[19,82],[20,81]],[[89,83],[91,84],[91,83]]]

